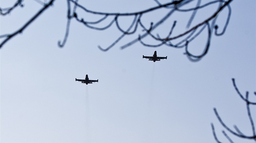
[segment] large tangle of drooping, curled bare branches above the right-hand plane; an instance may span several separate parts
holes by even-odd
[[[108,46],[106,48],[102,48],[101,46],[98,46],[98,48],[100,48],[100,50],[102,50],[102,51],[107,51],[110,48],[112,48],[113,46],[115,46],[115,44],[117,44],[117,42],[119,42],[122,38],[124,38],[124,36],[134,34],[137,31],[137,27],[140,26],[143,29],[144,34],[142,34],[142,35],[139,34],[138,38],[136,38],[135,40],[132,40],[131,42],[128,42],[124,46],[121,46],[121,49],[124,49],[128,46],[131,46],[132,44],[134,44],[136,42],[140,42],[143,46],[148,46],[148,47],[159,47],[159,46],[162,46],[162,45],[166,45],[166,46],[170,46],[170,47],[174,47],[174,48],[183,48],[183,47],[185,47],[185,53],[184,54],[187,55],[187,57],[191,61],[198,61],[207,54],[208,49],[210,47],[211,36],[212,36],[213,33],[216,36],[221,36],[225,33],[226,28],[228,26],[230,16],[231,16],[231,7],[230,7],[229,4],[230,4],[230,2],[232,2],[232,0],[227,0],[227,1],[213,0],[213,1],[210,1],[206,4],[200,5],[201,0],[197,0],[197,4],[196,4],[195,7],[188,8],[188,9],[182,9],[183,6],[187,6],[189,3],[191,3],[192,1],[195,1],[195,0],[177,0],[177,1],[166,3],[166,4],[161,4],[157,0],[154,0],[156,2],[157,6],[146,9],[146,10],[143,10],[143,11],[138,11],[138,12],[134,12],[134,13],[102,13],[102,12],[97,12],[97,11],[91,11],[91,10],[85,8],[85,6],[82,6],[81,4],[79,4],[78,2],[76,2],[74,0],[69,0],[69,1],[72,2],[73,4],[75,4],[78,8],[85,11],[86,13],[91,13],[93,15],[102,15],[102,18],[99,19],[96,22],[87,22],[82,17],[78,18],[78,13],[75,13],[76,21],[84,24],[88,28],[95,29],[95,30],[105,30],[105,29],[111,27],[113,25],[113,23],[116,23],[117,29],[122,33],[122,35],[119,36],[119,38],[117,38],[117,40],[115,40],[115,42],[113,42],[110,46]],[[152,31],[154,29],[156,29],[156,27],[161,25],[164,21],[166,21],[176,11],[178,11],[178,12],[193,11],[193,13],[191,15],[191,18],[189,19],[189,22],[187,24],[187,28],[189,28],[190,25],[191,25],[191,22],[193,21],[193,18],[195,17],[195,15],[197,13],[197,11],[199,9],[202,9],[202,8],[207,8],[208,6],[210,6],[212,4],[219,4],[219,8],[217,8],[215,13],[213,13],[213,15],[208,17],[206,20],[204,20],[204,21],[198,23],[197,25],[195,25],[194,27],[188,29],[184,33],[173,36],[172,31],[175,29],[175,25],[176,25],[177,21],[174,21],[174,24],[170,27],[169,34],[167,36],[165,36],[164,38],[161,38],[159,36],[159,34],[153,34],[152,33]],[[225,7],[228,8],[228,17],[226,19],[226,23],[225,23],[225,26],[223,27],[223,30],[220,33],[218,33],[217,31],[218,31],[219,28],[218,28],[218,25],[215,24],[215,22],[216,22],[216,19],[217,19],[219,13],[221,13],[221,11]],[[143,17],[143,15],[145,13],[152,12],[152,11],[157,11],[157,10],[162,9],[162,8],[169,8],[170,9],[169,13],[167,13],[161,20],[157,21],[156,23],[151,22],[150,27],[147,29],[145,27],[145,25],[147,25],[148,23],[143,23],[141,21],[141,18]],[[134,16],[135,18],[132,21],[132,23],[130,24],[130,27],[127,30],[124,30],[124,29],[121,29],[121,27],[119,25],[118,17],[126,17],[126,16]],[[98,24],[98,23],[104,21],[107,18],[112,18],[112,21],[108,25],[106,25],[105,27],[96,27],[96,26],[94,26],[95,24]],[[214,26],[210,26],[210,25],[214,25]],[[130,32],[132,27],[134,27],[134,30],[132,32]],[[208,31],[208,39],[207,39],[207,42],[206,42],[206,47],[204,48],[202,54],[193,55],[188,50],[189,43],[192,40],[194,40],[198,35],[200,35],[201,32],[204,31],[204,29],[206,27],[207,27],[207,31]],[[143,42],[143,38],[145,38],[146,36],[150,36],[154,40],[159,41],[159,44],[152,45],[152,44],[147,44],[147,43]],[[176,40],[176,39],[181,39],[181,40],[177,44],[172,44],[171,41]]]

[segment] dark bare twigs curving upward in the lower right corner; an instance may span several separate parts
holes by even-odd
[[[226,129],[228,130],[228,132],[230,132],[232,135],[236,136],[236,137],[240,137],[240,138],[243,138],[243,139],[253,139],[254,141],[256,141],[256,131],[255,131],[255,126],[254,126],[254,122],[252,120],[252,115],[251,115],[251,110],[250,110],[250,105],[256,105],[254,102],[251,102],[249,101],[249,92],[247,91],[246,92],[246,95],[245,97],[243,95],[241,95],[241,93],[239,92],[236,84],[235,84],[235,79],[232,78],[232,82],[233,82],[233,86],[236,90],[236,92],[239,94],[239,96],[241,97],[241,99],[243,101],[245,101],[246,103],[246,109],[247,109],[247,115],[248,115],[248,118],[249,118],[249,122],[251,124],[251,128],[252,128],[252,135],[244,135],[240,130],[239,128],[234,125],[234,129],[235,130],[232,130],[231,128],[229,128],[224,122],[223,120],[221,119],[221,117],[219,116],[218,112],[217,112],[217,109],[214,108],[214,113],[216,115],[216,117],[218,118],[219,122],[221,123],[221,125]],[[254,94],[256,95],[256,93],[254,92]],[[215,128],[214,128],[214,125],[213,123],[211,123],[211,126],[212,126],[212,131],[213,131],[213,136],[215,138],[215,140],[217,141],[217,143],[221,143],[218,139],[217,139],[217,135],[215,133]],[[233,141],[231,140],[231,138],[226,134],[226,132],[223,130],[222,131],[223,135],[228,139],[228,141],[230,143],[233,143]]]

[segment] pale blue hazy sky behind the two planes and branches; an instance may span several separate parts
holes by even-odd
[[[0,7],[14,2],[1,1]],[[81,4],[93,11],[120,13],[157,5],[154,0]],[[197,12],[192,25],[201,16],[211,15],[216,6]],[[0,49],[1,143],[216,143],[210,123],[215,125],[219,140],[228,143],[214,107],[227,126],[233,129],[236,124],[245,135],[252,135],[246,105],[231,79],[236,79],[243,95],[249,91],[255,101],[256,1],[233,0],[230,6],[226,33],[213,35],[208,54],[191,62],[183,54],[184,48],[149,48],[137,42],[120,49],[138,34],[103,52],[98,45],[106,48],[121,35],[116,26],[95,31],[74,19],[65,46],[59,48],[57,43],[65,35],[67,2],[56,0]],[[20,28],[41,7],[36,0],[25,0],[24,8],[1,17],[0,35]],[[83,14],[88,21],[95,18]],[[150,13],[145,21],[149,26],[153,18],[164,15],[165,11]],[[190,15],[177,14],[160,30],[169,31],[175,19],[180,19],[177,25],[183,24],[185,29]],[[220,27],[226,17],[224,10],[217,21]],[[130,17],[120,20],[124,27],[131,23]],[[202,52],[205,44],[206,34],[202,33],[189,48]],[[142,59],[155,50],[167,59],[155,63]],[[75,81],[86,74],[99,82],[86,85]],[[251,110],[256,121],[255,107]],[[236,143],[253,142],[230,137]]]

